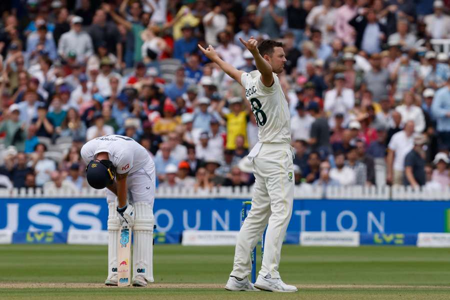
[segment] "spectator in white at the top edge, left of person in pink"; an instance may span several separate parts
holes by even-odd
[[[326,44],[330,44],[334,38],[336,9],[332,6],[332,2],[332,0],[323,0],[321,5],[312,7],[306,17],[307,25],[319,29]]]

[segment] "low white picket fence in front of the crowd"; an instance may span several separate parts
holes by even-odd
[[[158,188],[155,198],[229,198],[249,199],[251,187],[214,187],[212,189]],[[0,198],[104,198],[104,189],[82,188],[80,190],[42,190],[41,188],[0,188]],[[413,189],[410,186],[318,186],[295,187],[295,199],[351,199],[351,200],[450,200],[450,188]]]

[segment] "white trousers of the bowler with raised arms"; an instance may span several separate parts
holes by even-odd
[[[230,276],[243,278],[251,272],[251,250],[268,223],[259,274],[265,276],[269,273],[272,278],[279,278],[281,245],[292,214],[292,159],[292,147],[287,143],[262,143],[253,158],[256,180],[251,208],[237,235]]]

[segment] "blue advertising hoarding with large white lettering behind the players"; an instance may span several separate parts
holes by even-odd
[[[156,199],[157,231],[238,230],[246,199]],[[447,201],[294,200],[287,231],[444,232]],[[106,230],[107,205],[99,198],[2,198],[0,229],[13,232]]]

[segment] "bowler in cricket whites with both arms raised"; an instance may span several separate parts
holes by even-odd
[[[286,58],[282,43],[240,39],[254,57],[257,70],[246,73],[223,61],[209,45],[198,45],[203,53],[245,88],[258,125],[258,142],[248,154],[256,178],[251,208],[237,235],[233,270],[225,289],[294,292],[278,272],[281,245],[292,213],[293,149],[290,145],[290,115],[287,100],[277,74]],[[254,285],[247,276],[251,271],[250,252],[265,226],[264,256]],[[256,287],[256,288],[255,288]]]

